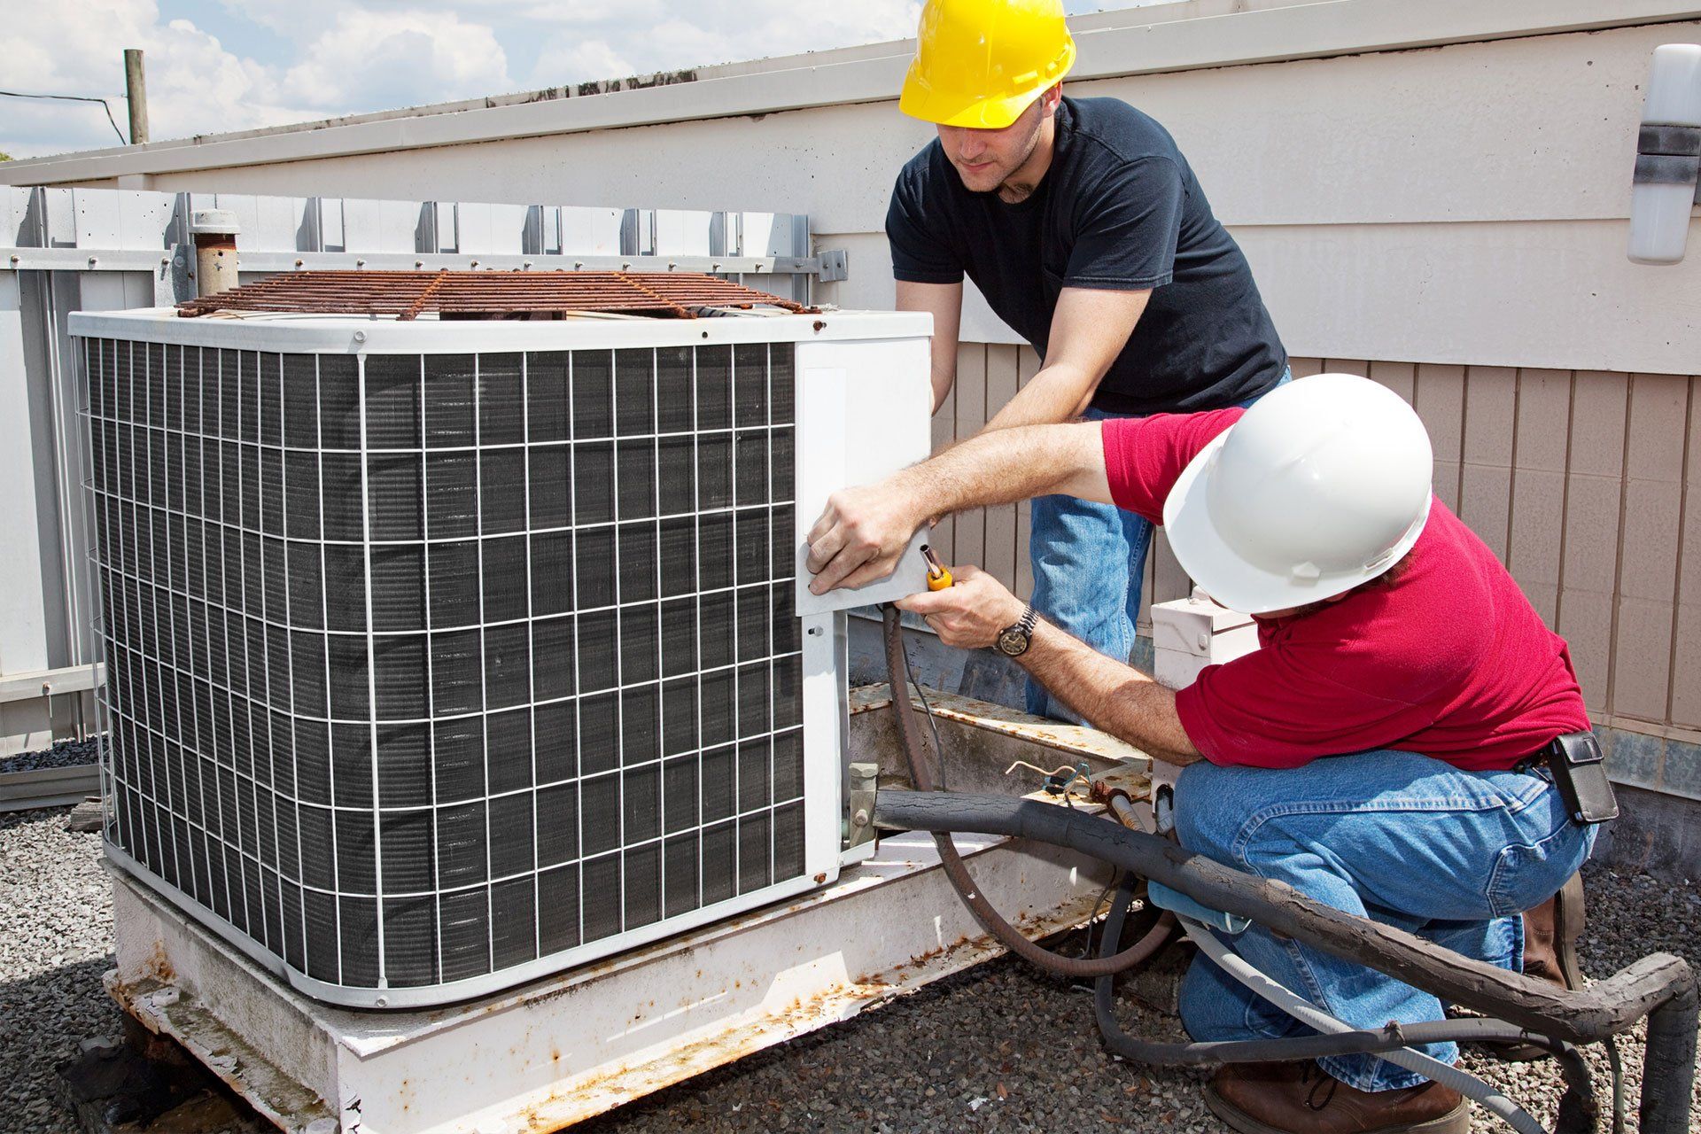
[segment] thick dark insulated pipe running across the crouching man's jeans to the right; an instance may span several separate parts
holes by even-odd
[[[1007,835],[1077,850],[1158,881],[1208,908],[1252,918],[1283,937],[1374,967],[1451,1003],[1504,1017],[1543,1037],[1596,1042],[1628,1030],[1647,1015],[1641,1129],[1645,1134],[1689,1129],[1698,991],[1681,957],[1653,954],[1585,989],[1563,991],[1342,913],[1291,886],[1232,870],[1155,835],[1068,808],[1009,796],[883,792],[876,799],[874,823],[896,830]],[[1112,933],[1106,937],[1116,940]],[[1412,1035],[1412,1029],[1402,1030]]]

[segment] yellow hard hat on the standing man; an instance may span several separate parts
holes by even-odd
[[[898,109],[1004,129],[1073,63],[1061,0],[927,0]]]

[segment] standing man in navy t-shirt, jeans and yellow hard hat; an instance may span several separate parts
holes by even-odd
[[[900,109],[939,138],[886,213],[898,309],[934,316],[934,408],[956,381],[963,277],[1039,352],[987,428],[1247,405],[1288,374],[1240,247],[1175,141],[1118,99],[1065,99],[1060,3],[930,0]],[[1034,609],[1126,661],[1152,525],[1033,502]],[[1073,714],[1034,683],[1027,709]]]

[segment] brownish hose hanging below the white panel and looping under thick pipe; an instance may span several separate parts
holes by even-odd
[[[922,736],[915,728],[915,709],[910,702],[910,683],[905,677],[908,665],[903,653],[903,632],[898,624],[898,609],[891,605],[883,607],[881,622],[886,638],[886,673],[891,682],[893,712],[898,719],[898,740],[902,741],[903,755],[910,763],[910,780],[915,784],[917,791],[937,792],[939,787],[934,780],[932,768],[927,767],[927,758],[922,755]],[[941,760],[942,758],[944,753],[941,753]],[[1165,913],[1165,916],[1158,918],[1158,923],[1153,925],[1145,937],[1114,957],[1065,957],[1060,952],[1033,944],[1022,935],[1021,930],[1004,920],[1004,915],[1000,915],[980,893],[980,887],[975,886],[975,879],[970,876],[968,867],[963,865],[963,855],[958,853],[949,831],[934,831],[934,845],[939,848],[939,865],[944,867],[946,877],[951,879],[951,886],[956,889],[963,904],[968,906],[968,911],[975,916],[980,927],[997,937],[1005,949],[1014,952],[1022,961],[1039,966],[1050,972],[1058,972],[1075,979],[1092,979],[1097,976],[1124,972],[1150,961],[1158,949],[1170,942],[1175,930],[1175,918]]]

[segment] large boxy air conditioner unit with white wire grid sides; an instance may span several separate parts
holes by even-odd
[[[929,447],[927,316],[71,316],[105,848],[313,998],[483,995],[842,862],[803,532]]]

